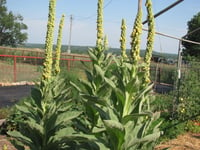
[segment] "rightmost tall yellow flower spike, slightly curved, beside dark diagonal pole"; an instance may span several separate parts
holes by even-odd
[[[154,23],[154,15],[152,9],[152,1],[146,0],[146,8],[147,8],[147,20],[148,20],[148,37],[147,37],[147,47],[145,52],[145,76],[144,76],[144,83],[150,83],[150,64],[151,64],[151,57],[153,51],[153,43],[154,43],[154,35],[155,35],[155,23]]]

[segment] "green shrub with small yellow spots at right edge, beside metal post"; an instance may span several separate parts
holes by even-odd
[[[178,101],[178,118],[192,120],[200,114],[199,73],[198,65],[191,62],[181,79]]]

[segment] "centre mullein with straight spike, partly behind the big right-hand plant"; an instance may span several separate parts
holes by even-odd
[[[93,129],[99,123],[99,112],[91,104],[90,98],[92,99],[105,99],[105,96],[111,93],[111,88],[107,85],[107,82],[112,82],[108,74],[108,68],[112,62],[111,54],[106,54],[107,49],[107,37],[103,35],[103,0],[98,0],[98,10],[97,10],[97,40],[96,47],[88,50],[88,54],[91,59],[92,69],[86,68],[87,80],[81,80],[84,89],[80,89],[80,86],[73,84],[77,90],[80,92],[85,105],[86,118],[89,118],[90,125],[88,125],[88,132],[92,133]],[[104,93],[104,94],[100,94]],[[88,97],[89,96],[89,97]],[[89,99],[88,99],[89,98]],[[96,100],[93,102],[95,103]],[[100,100],[99,100],[100,101]],[[92,103],[93,103],[92,102]]]

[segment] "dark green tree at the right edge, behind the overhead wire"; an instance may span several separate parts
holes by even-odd
[[[194,15],[193,18],[188,21],[187,25],[188,32],[184,39],[200,42],[200,12]],[[192,56],[200,59],[200,45],[189,42],[183,42],[182,44],[184,46],[184,56]]]

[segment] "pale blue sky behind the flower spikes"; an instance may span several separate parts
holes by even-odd
[[[152,0],[154,13],[171,5],[176,0]],[[49,0],[7,0],[8,10],[24,17],[28,25],[28,42],[44,43]],[[145,3],[145,0],[143,0]],[[137,0],[104,0],[104,29],[109,46],[119,48],[121,19],[127,22],[127,47],[130,48],[130,34],[137,11]],[[56,22],[66,15],[63,44],[68,44],[70,15],[73,15],[72,45],[94,46],[96,40],[97,0],[57,0]],[[143,20],[146,9],[143,9]],[[184,0],[165,14],[156,18],[156,30],[176,37],[187,32],[187,22],[200,12],[199,0]],[[146,26],[144,26],[146,27]],[[55,29],[55,41],[57,27]],[[143,32],[142,48],[145,49],[146,33]],[[162,36],[155,37],[155,51],[177,53],[178,41]]]

